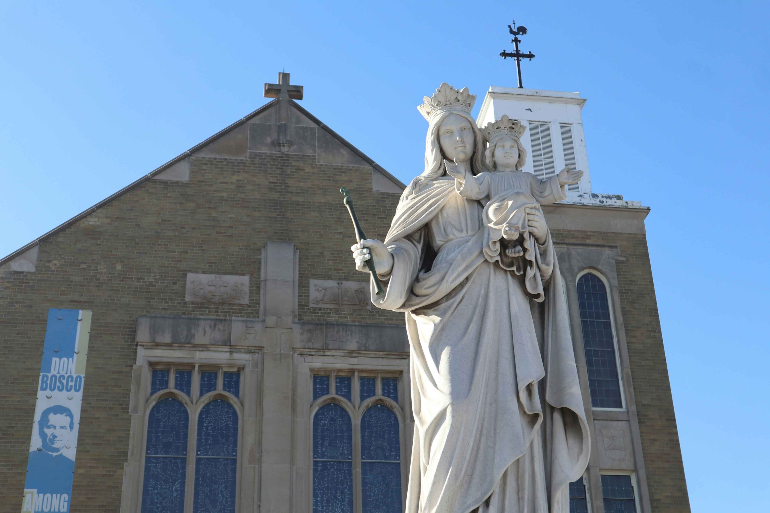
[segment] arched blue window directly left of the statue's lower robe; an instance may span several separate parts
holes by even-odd
[[[401,511],[401,450],[398,418],[373,405],[361,418],[361,491],[364,513]]]

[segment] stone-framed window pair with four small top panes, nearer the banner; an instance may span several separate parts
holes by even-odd
[[[237,368],[152,368],[142,513],[236,511],[240,375]]]

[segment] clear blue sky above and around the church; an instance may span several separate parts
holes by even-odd
[[[770,509],[767,2],[0,3],[0,255],[263,105],[302,105],[403,182],[440,82],[579,91],[594,192],[648,244],[693,511]],[[480,107],[477,102],[475,112]]]

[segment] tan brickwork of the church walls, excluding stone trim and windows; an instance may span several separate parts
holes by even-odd
[[[393,331],[387,329],[398,333],[403,314],[377,308],[320,308],[310,301],[310,280],[366,281],[350,258],[353,231],[339,187],[349,188],[356,199],[367,235],[382,239],[403,185],[294,102],[289,125],[293,145],[289,152],[277,151],[272,140],[276,102],[266,107],[28,248],[37,252],[34,270],[13,270],[13,261],[20,261],[23,254],[0,261],[0,346],[5,353],[0,363],[5,381],[0,394],[0,511],[18,511],[22,497],[48,308],[93,312],[72,511],[126,511],[124,496],[131,488],[124,470],[132,458],[130,412],[136,394],[137,348],[166,344],[160,339],[140,340],[144,335],[137,331],[137,320],[152,315],[228,322],[261,319],[261,333],[267,339],[271,322],[276,322],[274,316],[265,315],[271,298],[263,297],[270,279],[263,269],[269,243],[293,243],[298,255],[296,310],[283,326],[293,330],[295,348],[326,349],[333,358],[341,348],[350,347],[343,333],[350,326],[363,330],[357,333],[368,340],[350,355],[372,351],[381,358],[407,358],[404,335],[390,335]],[[604,208],[596,214],[600,221],[575,225],[553,215],[559,208],[582,211],[554,205],[547,212],[554,240],[564,245],[564,251],[571,251],[571,244],[593,244],[602,252],[617,248],[621,255],[614,265],[628,348],[628,381],[635,398],[635,410],[629,415],[638,418],[641,443],[636,471],[643,478],[651,511],[688,511],[644,235],[646,212],[628,217],[618,208]],[[628,223],[634,228],[595,229],[605,226],[601,219],[618,215],[631,219]],[[248,276],[249,303],[186,301],[187,273]],[[380,333],[388,335],[381,335],[380,341]],[[172,345],[185,342],[171,340]],[[279,356],[281,351],[277,350]],[[297,351],[289,352],[299,358]],[[264,365],[269,365],[267,357]],[[291,382],[297,382],[296,376]],[[270,393],[267,384],[261,390]],[[299,397],[296,392],[293,401]],[[269,425],[264,420],[263,426],[260,432],[266,439]],[[259,455],[266,454],[266,447],[259,441],[257,446],[262,452],[254,456],[253,465],[259,468]],[[300,466],[290,470],[289,495],[284,495],[296,498],[281,511],[310,511],[305,509],[308,498],[300,497],[306,494]],[[253,511],[258,511],[260,501],[260,511],[279,511],[267,506],[273,490],[266,479],[256,477],[259,501],[254,500]],[[598,505],[594,511],[601,511]]]

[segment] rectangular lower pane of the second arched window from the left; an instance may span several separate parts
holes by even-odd
[[[196,458],[195,513],[236,511],[236,458]]]

